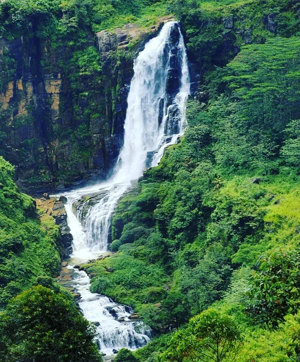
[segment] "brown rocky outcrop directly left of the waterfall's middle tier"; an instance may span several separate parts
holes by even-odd
[[[60,241],[61,241],[61,257],[67,258],[72,252],[72,234],[70,228],[67,225],[67,215],[65,212],[64,204],[62,201],[57,200],[54,197],[48,199],[42,197],[36,199],[36,205],[38,208],[52,216],[55,219],[56,224],[59,226]]]

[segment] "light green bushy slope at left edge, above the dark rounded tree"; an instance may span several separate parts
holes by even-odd
[[[34,200],[13,182],[14,168],[0,157],[0,306],[60,269],[59,231],[52,217],[37,218]]]

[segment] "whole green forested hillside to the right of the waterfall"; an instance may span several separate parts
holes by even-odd
[[[87,265],[92,290],[129,302],[158,334],[134,353],[140,361],[296,360],[300,42],[291,36],[299,22],[289,33],[280,22],[296,16],[296,5],[266,12],[273,2],[210,3],[214,11],[204,1],[177,3],[189,55],[203,70],[201,92],[187,104],[180,143],[117,206],[118,251]],[[245,45],[231,35],[250,10],[254,43]],[[241,47],[236,56],[231,45],[219,52],[225,30],[216,21],[226,11],[243,19],[228,30],[228,43]],[[256,26],[272,11],[277,35]],[[170,328],[178,329],[159,336]],[[218,339],[218,328],[228,334]]]

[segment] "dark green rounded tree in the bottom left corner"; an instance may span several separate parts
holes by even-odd
[[[12,298],[0,317],[3,361],[100,361],[94,329],[73,301],[41,285]]]

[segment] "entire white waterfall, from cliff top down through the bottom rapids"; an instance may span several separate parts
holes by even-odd
[[[183,37],[175,21],[163,25],[134,62],[127,98],[124,144],[110,179],[65,194],[67,222],[73,236],[72,262],[107,251],[110,221],[117,202],[142,175],[158,164],[165,147],[184,131],[189,75]],[[69,265],[68,268],[73,268]],[[105,354],[136,349],[150,339],[141,321],[132,321],[128,306],[92,293],[85,271],[74,269],[72,286],[80,293],[83,315],[96,325],[96,341]]]

